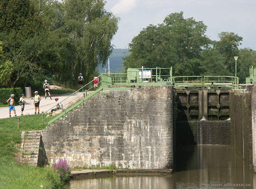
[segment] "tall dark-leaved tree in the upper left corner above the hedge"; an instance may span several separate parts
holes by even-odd
[[[3,0],[0,3],[0,39],[4,58],[13,70],[7,87],[14,87],[20,78],[43,72],[56,59],[52,51],[51,33],[29,0]]]

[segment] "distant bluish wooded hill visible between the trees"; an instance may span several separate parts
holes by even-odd
[[[128,55],[128,49],[122,49],[122,48],[115,48],[113,49],[112,54],[109,56],[109,69],[110,73],[113,72],[120,72],[121,69],[123,69],[123,57]],[[108,61],[106,62],[106,65],[101,68],[99,67],[99,72],[104,73],[105,69],[108,70]]]

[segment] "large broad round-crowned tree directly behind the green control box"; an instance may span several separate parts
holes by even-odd
[[[172,66],[175,75],[198,75],[202,49],[210,42],[206,28],[194,18],[184,19],[183,12],[172,13],[163,24],[149,25],[133,38],[124,66]]]

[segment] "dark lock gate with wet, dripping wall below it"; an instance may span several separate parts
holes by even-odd
[[[177,90],[176,144],[230,144],[229,90]]]

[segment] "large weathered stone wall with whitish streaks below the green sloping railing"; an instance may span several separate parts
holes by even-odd
[[[172,97],[168,85],[98,93],[43,130],[44,157],[74,166],[172,168]]]

